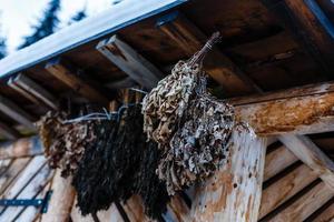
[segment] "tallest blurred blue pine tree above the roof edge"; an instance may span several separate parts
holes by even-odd
[[[52,34],[59,23],[59,11],[60,0],[51,0],[47,10],[45,11],[45,17],[40,20],[40,24],[33,26],[33,33],[30,37],[24,38],[24,42],[19,47],[19,49],[28,47],[40,39]]]

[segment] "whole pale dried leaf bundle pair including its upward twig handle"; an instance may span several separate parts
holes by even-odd
[[[206,91],[202,69],[218,40],[214,33],[189,61],[177,63],[143,102],[144,131],[164,151],[158,175],[170,195],[209,176],[228,154],[234,111]]]

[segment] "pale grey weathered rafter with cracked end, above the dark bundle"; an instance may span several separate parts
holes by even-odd
[[[117,36],[100,41],[97,46],[97,50],[136,82],[147,89],[156,87],[158,81],[164,77],[154,64]]]

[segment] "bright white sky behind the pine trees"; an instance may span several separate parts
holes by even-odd
[[[8,51],[12,52],[22,38],[29,36],[31,26],[37,24],[50,0],[0,0],[0,29],[7,38]],[[87,8],[87,13],[95,14],[112,6],[115,0],[62,0],[59,19],[60,28],[68,26],[68,20],[77,11]]]

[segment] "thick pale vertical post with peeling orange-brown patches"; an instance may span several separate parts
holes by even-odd
[[[257,221],[266,139],[233,133],[228,163],[199,189],[191,205],[195,221]]]

